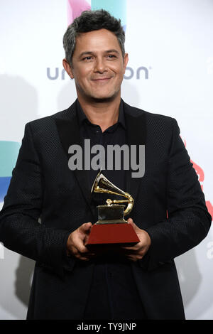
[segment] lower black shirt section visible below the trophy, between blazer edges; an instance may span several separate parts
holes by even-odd
[[[131,266],[122,257],[97,260],[84,319],[145,320]]]

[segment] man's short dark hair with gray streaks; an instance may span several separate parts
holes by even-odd
[[[75,50],[75,39],[80,33],[87,33],[99,29],[107,29],[115,34],[121,47],[121,53],[125,54],[125,32],[121,26],[121,20],[114,18],[109,11],[100,9],[98,11],[83,11],[82,14],[68,26],[63,37],[65,58],[72,66],[72,55]]]

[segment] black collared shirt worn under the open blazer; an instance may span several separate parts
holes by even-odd
[[[77,117],[80,126],[82,145],[84,139],[90,139],[90,146],[100,144],[107,152],[107,145],[126,144],[126,123],[124,105],[121,99],[119,106],[118,122],[109,126],[104,132],[97,124],[92,124],[84,114],[80,103],[77,102]],[[84,151],[84,150],[83,150]],[[95,154],[94,154],[95,155]],[[91,154],[91,158],[92,158]],[[121,163],[121,169],[107,169],[107,154],[105,155],[105,169],[102,173],[111,183],[121,190],[126,190],[125,171]],[[94,179],[99,170],[90,168],[88,185],[92,188]],[[103,205],[109,195],[94,193],[92,195],[93,205]],[[121,199],[113,195],[113,199]],[[131,265],[126,257],[118,254],[103,256],[95,260],[92,286],[84,311],[84,319],[143,319],[143,307],[138,296],[135,281],[133,279]]]

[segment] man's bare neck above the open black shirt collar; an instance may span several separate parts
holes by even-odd
[[[102,132],[118,122],[121,96],[105,102],[87,102],[79,96],[78,100],[89,122],[99,125]]]

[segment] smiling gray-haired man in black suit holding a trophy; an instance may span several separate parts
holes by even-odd
[[[75,79],[68,109],[26,124],[0,213],[0,241],[35,260],[28,319],[184,319],[173,259],[204,239],[212,217],[175,119],[121,99],[128,63],[121,23],[86,11],[67,28],[63,65]],[[105,170],[130,193],[133,247],[85,247],[97,205],[97,171],[68,166],[69,148],[145,145],[145,174]],[[106,163],[107,166],[107,163]],[[39,219],[40,218],[40,219]],[[38,221],[39,220],[39,221]]]

